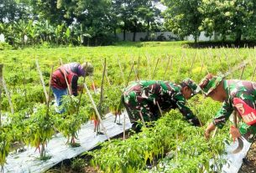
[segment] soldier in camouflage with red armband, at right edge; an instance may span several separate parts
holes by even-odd
[[[199,86],[206,96],[222,102],[222,108],[206,128],[206,138],[210,137],[216,126],[222,128],[234,110],[238,113],[240,123],[238,128],[232,127],[230,130],[233,139],[243,135],[248,140],[252,140],[253,135],[256,134],[256,83],[246,80],[226,80],[208,74]]]

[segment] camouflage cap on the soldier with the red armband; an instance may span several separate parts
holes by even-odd
[[[199,87],[207,96],[213,91],[213,89],[216,89],[217,85],[220,84],[222,79],[222,76],[213,76],[212,74],[207,74],[206,77],[201,80]]]

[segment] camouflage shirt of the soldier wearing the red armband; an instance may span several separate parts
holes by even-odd
[[[222,108],[217,112],[213,120],[213,124],[222,128],[228,117],[234,110],[233,99],[243,99],[251,108],[256,109],[256,83],[245,80],[224,80],[224,89],[228,95],[228,99],[222,104]],[[239,116],[239,119],[241,117]],[[256,125],[247,125],[243,121],[239,123],[239,130],[242,135],[256,134]]]

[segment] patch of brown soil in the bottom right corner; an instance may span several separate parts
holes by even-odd
[[[246,159],[243,159],[243,165],[238,173],[256,172],[256,142],[251,145]]]

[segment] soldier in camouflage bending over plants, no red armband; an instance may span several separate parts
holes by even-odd
[[[200,125],[191,109],[185,106],[185,100],[196,94],[196,89],[197,85],[191,79],[185,79],[180,85],[169,81],[142,80],[125,89],[123,104],[132,122],[157,120],[161,110],[178,108],[185,120],[192,125]]]

